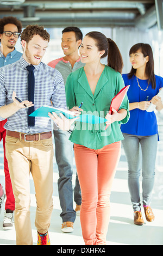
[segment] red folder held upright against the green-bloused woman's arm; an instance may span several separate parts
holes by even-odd
[[[122,101],[124,100],[124,97],[127,94],[129,87],[130,86],[123,87],[120,90],[120,92],[114,98],[112,98],[110,109],[109,109],[109,114],[112,114],[112,108],[114,108],[116,111],[118,111],[118,109],[121,106]],[[108,128],[108,126],[109,126],[109,124],[106,124],[105,130]]]

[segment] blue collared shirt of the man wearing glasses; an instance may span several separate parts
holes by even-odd
[[[20,59],[22,56],[21,52],[16,51],[16,49],[12,52],[9,52],[7,54],[7,57],[4,57],[2,52],[0,52],[0,68],[2,66],[9,65],[11,63],[17,62],[18,59]]]

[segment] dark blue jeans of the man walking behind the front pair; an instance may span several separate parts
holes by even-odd
[[[60,214],[62,222],[76,219],[76,211],[73,210],[73,143],[68,140],[70,132],[54,130],[55,157],[59,170],[58,192],[62,212]],[[74,187],[74,202],[82,204],[82,196],[78,176],[76,176],[76,186]]]

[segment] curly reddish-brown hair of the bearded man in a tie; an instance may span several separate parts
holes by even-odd
[[[43,40],[46,40],[48,42],[50,40],[50,35],[43,26],[28,25],[26,28],[23,29],[23,32],[21,34],[21,41],[24,40],[28,43],[30,40],[32,40],[34,35],[40,35]]]

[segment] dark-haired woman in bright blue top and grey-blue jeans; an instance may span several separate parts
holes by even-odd
[[[128,90],[130,119],[121,125],[124,152],[128,161],[128,186],[134,209],[134,223],[143,225],[140,204],[140,170],[142,168],[142,197],[146,220],[153,221],[151,207],[154,185],[154,169],[158,144],[158,124],[154,111],[146,109],[152,102],[158,111],[163,107],[160,97],[155,96],[163,86],[163,78],[154,75],[152,48],[148,44],[136,44],[131,47],[129,74],[123,75]],[[140,145],[142,159],[140,158]],[[142,162],[141,162],[142,160]]]

